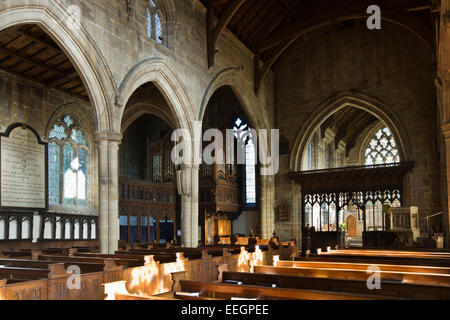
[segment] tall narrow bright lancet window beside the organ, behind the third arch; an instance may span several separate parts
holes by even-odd
[[[245,149],[243,151],[245,156],[245,203],[254,206],[256,205],[256,150],[252,139],[252,132],[248,125],[240,118],[234,123],[233,131],[236,139],[245,142]]]

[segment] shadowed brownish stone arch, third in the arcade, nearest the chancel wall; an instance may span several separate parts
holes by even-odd
[[[262,112],[258,112],[258,101],[253,90],[247,86],[243,80],[242,69],[232,67],[220,71],[210,82],[206,88],[203,96],[200,112],[198,114],[198,121],[203,121],[211,97],[221,87],[229,86],[242,108],[247,113],[252,123],[251,126],[255,129],[270,129],[268,121],[262,116]]]

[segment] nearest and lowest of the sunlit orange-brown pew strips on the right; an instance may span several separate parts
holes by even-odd
[[[337,268],[290,268],[255,266],[255,273],[281,274],[300,277],[320,277],[330,279],[355,279],[367,280],[372,274],[363,270],[337,269]],[[434,284],[439,286],[450,286],[450,275],[432,273],[414,273],[397,271],[380,271],[379,276],[384,281],[397,281],[401,283]]]

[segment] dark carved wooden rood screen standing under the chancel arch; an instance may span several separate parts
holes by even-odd
[[[303,226],[342,231],[351,216],[361,225],[360,232],[387,230],[384,212],[401,206],[403,176],[412,166],[397,163],[290,173],[302,186]],[[361,236],[356,227],[354,233]]]

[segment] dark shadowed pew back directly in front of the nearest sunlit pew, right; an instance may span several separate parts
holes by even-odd
[[[367,295],[392,296],[405,299],[450,300],[449,287],[381,282],[381,289],[370,290],[364,280],[297,277],[274,274],[224,272],[222,281],[246,285],[276,285],[279,288],[337,291]]]

